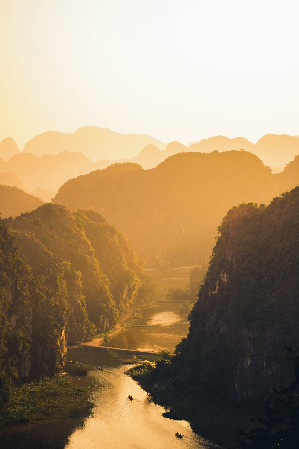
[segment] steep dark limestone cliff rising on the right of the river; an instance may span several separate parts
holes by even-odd
[[[261,399],[288,381],[282,347],[299,341],[299,188],[231,209],[219,231],[178,360],[199,388]]]

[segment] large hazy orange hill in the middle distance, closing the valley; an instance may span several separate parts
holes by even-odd
[[[180,153],[149,170],[114,164],[78,176],[59,189],[53,202],[71,211],[93,207],[128,236],[148,264],[180,255],[196,255],[201,262],[209,259],[217,226],[230,207],[268,204],[298,184],[295,165],[272,175],[246,151]]]

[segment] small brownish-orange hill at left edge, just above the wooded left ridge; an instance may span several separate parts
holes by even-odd
[[[30,212],[43,204],[43,201],[26,194],[17,187],[0,185],[1,218],[16,217],[24,212]]]

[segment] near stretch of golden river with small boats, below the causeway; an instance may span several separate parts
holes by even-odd
[[[165,409],[124,374],[130,366],[122,365],[117,357],[81,348],[69,349],[68,358],[86,368],[95,406],[92,415],[69,436],[65,449],[219,448],[195,434],[186,421],[162,416]],[[103,371],[97,370],[99,365]],[[177,431],[183,435],[181,440],[174,435]]]

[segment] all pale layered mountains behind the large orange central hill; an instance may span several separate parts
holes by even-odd
[[[48,131],[27,142],[24,151],[11,138],[0,142],[0,183],[33,194],[39,189],[39,198],[50,201],[67,180],[113,163],[138,163],[148,169],[173,154],[241,148],[256,154],[273,173],[279,173],[299,154],[299,138],[267,134],[253,144],[243,137],[217,136],[185,146],[177,141],[165,145],[150,136],[123,135],[108,128],[84,127],[71,134]],[[128,158],[131,154],[138,155]],[[126,157],[112,158],[120,155]]]

